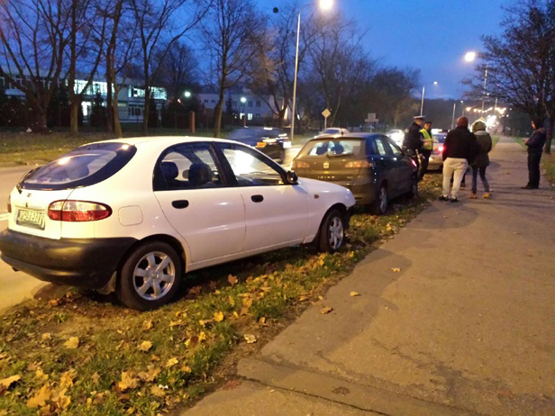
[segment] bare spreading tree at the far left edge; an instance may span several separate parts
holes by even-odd
[[[25,94],[33,131],[47,128],[47,110],[63,68],[70,14],[64,0],[0,2],[0,76]]]

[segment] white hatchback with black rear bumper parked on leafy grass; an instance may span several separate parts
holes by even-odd
[[[99,141],[14,188],[0,251],[16,270],[147,310],[184,272],[296,244],[340,249],[354,203],[232,140]]]

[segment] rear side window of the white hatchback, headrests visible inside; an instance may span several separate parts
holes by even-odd
[[[167,149],[154,173],[155,191],[222,187],[209,143],[184,143]]]

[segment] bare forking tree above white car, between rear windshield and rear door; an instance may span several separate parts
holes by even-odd
[[[159,63],[168,50],[196,26],[206,14],[210,2],[205,0],[130,0],[133,19],[137,23],[137,35],[141,50],[144,78],[144,116],[142,130],[149,130],[150,95],[153,82],[159,76]],[[189,6],[185,10],[185,6]],[[174,19],[178,11],[182,14]],[[190,12],[190,14],[187,14]],[[183,14],[187,18],[184,19]],[[184,22],[177,24],[176,22]]]

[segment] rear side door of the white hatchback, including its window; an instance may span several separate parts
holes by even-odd
[[[154,194],[168,222],[187,241],[190,263],[241,252],[243,200],[223,175],[210,142],[166,149],[155,167]]]

